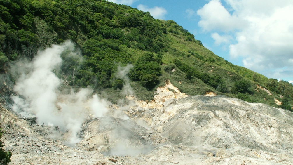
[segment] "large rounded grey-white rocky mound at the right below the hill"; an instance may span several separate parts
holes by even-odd
[[[165,110],[176,115],[162,124],[173,144],[200,143],[216,148],[252,148],[292,152],[292,113],[224,96],[191,96]]]

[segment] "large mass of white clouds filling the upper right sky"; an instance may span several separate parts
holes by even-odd
[[[293,1],[212,0],[197,11],[198,25],[215,44],[229,45],[231,57],[268,77],[293,75]],[[219,35],[227,33],[229,35]],[[232,36],[233,38],[229,38]]]

